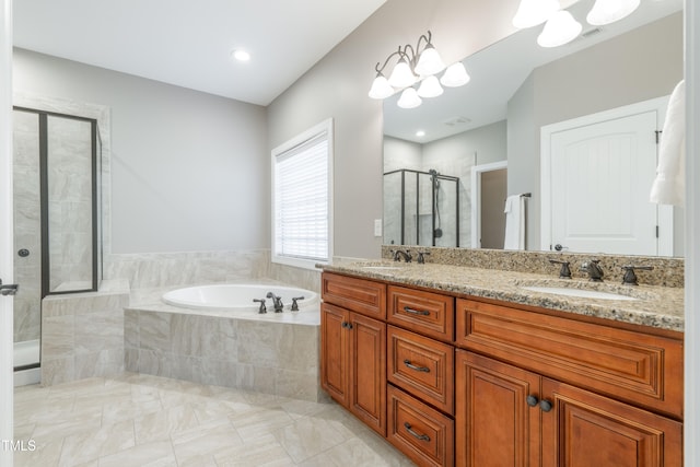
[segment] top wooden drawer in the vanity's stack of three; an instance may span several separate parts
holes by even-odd
[[[452,296],[389,285],[387,320],[425,336],[452,342],[455,306]]]

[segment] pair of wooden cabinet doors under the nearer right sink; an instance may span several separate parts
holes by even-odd
[[[457,465],[676,467],[682,425],[457,350]]]

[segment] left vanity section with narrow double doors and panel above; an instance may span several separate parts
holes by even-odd
[[[320,385],[386,436],[386,324],[363,314],[385,313],[385,285],[326,273],[323,283],[334,293],[320,306]]]

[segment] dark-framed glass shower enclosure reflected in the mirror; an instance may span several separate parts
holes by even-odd
[[[432,168],[386,172],[384,243],[459,246],[459,177]]]

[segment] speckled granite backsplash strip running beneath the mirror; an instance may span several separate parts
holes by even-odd
[[[383,245],[382,258],[390,259],[396,245]],[[684,287],[682,258],[665,258],[656,256],[594,255],[590,253],[548,253],[548,252],[511,252],[503,249],[441,248],[404,246],[410,249],[413,257],[417,252],[429,252],[425,262],[441,265],[466,266],[480,269],[500,269],[504,271],[534,272],[557,277],[559,266],[549,262],[558,259],[571,262],[570,269],[574,279],[586,279],[586,273],[579,268],[588,259],[599,259],[605,272],[606,282],[622,282],[622,266],[653,266],[651,271],[637,271],[640,284]]]

